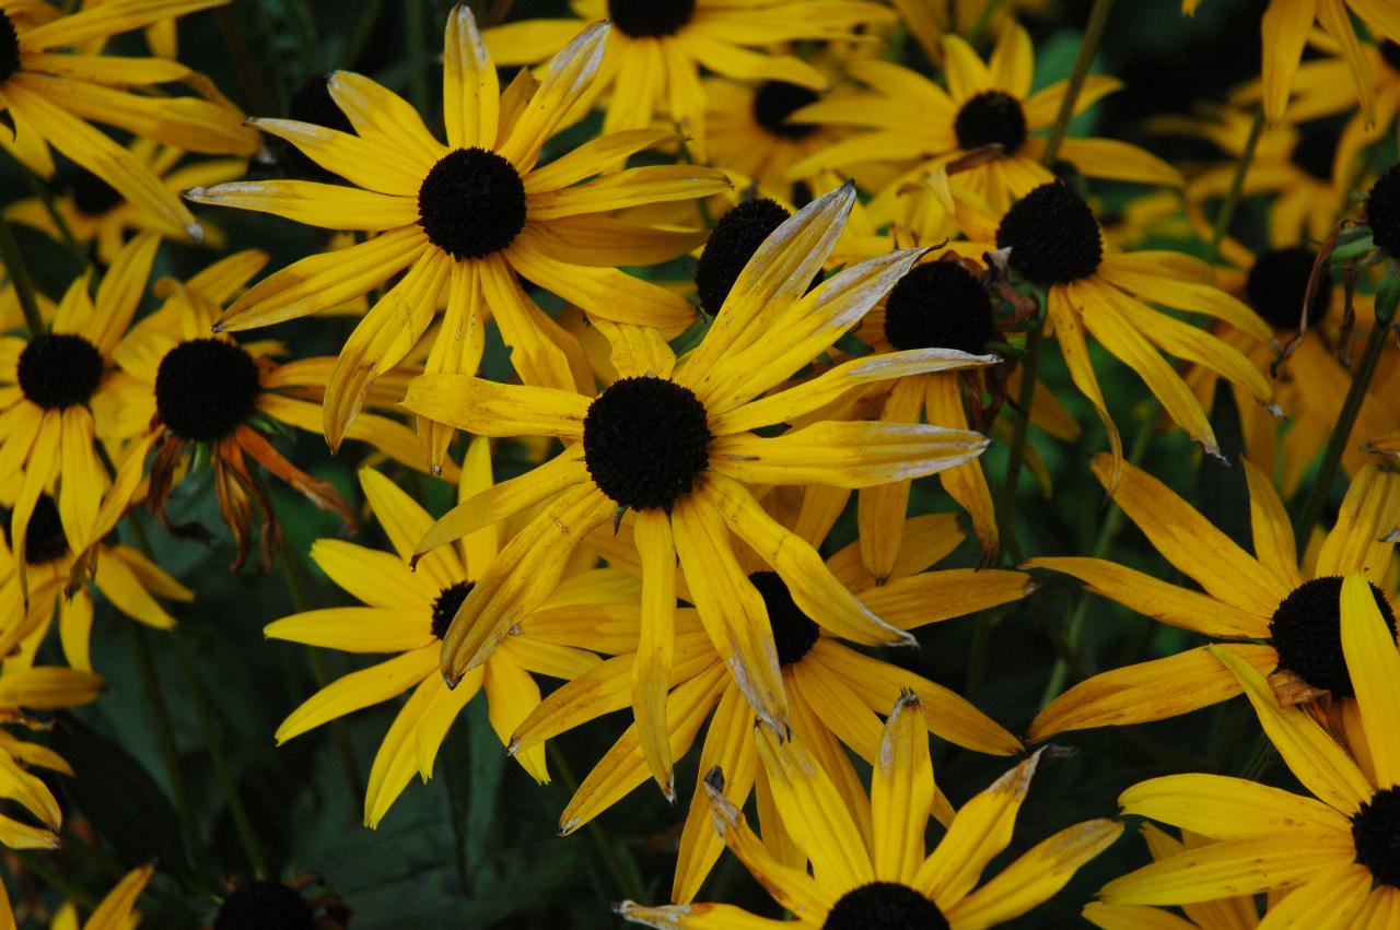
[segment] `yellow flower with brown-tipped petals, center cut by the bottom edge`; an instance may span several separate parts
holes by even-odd
[[[862,831],[843,794],[801,741],[780,741],[755,729],[777,811],[791,843],[812,864],[808,874],[760,840],[741,811],[724,796],[725,773],[704,779],[714,828],[774,901],[802,927],[823,930],[972,930],[1014,920],[1064,887],[1086,861],[1123,832],[1112,820],[1068,827],[1036,845],[980,888],[983,871],[1011,842],[1039,752],[967,801],[931,853],[924,832],[937,789],[918,698],[904,694],[885,723]],[[767,838],[767,824],[764,824]],[[651,927],[792,926],[756,917],[732,905],[647,908],[631,901],[617,912]]]

